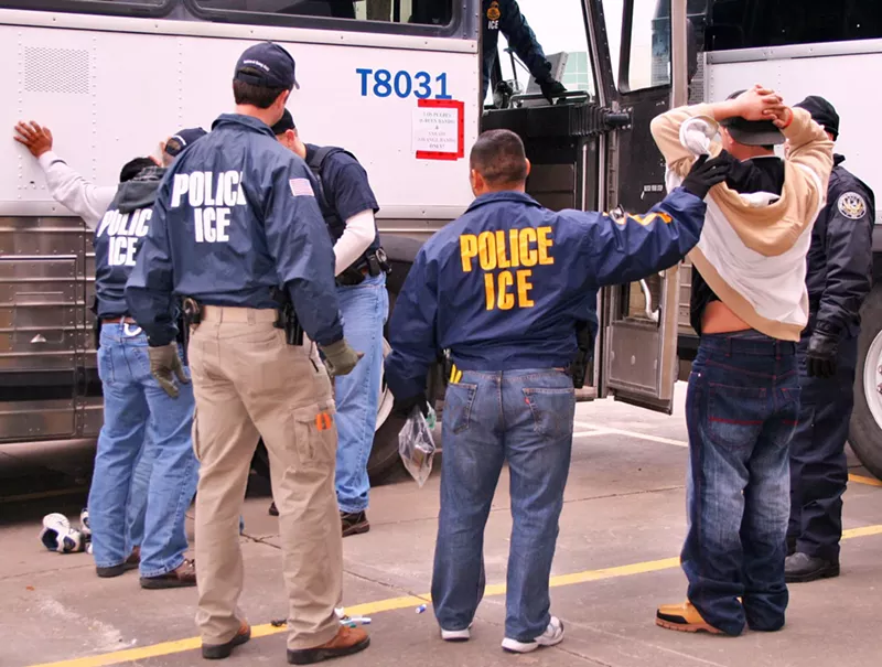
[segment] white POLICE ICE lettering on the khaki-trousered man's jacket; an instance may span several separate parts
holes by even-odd
[[[241,172],[196,171],[175,174],[172,184],[171,208],[186,201],[193,208],[193,230],[196,243],[226,243],[234,206],[245,206]]]

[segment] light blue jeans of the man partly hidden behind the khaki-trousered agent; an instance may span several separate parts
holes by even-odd
[[[337,288],[343,335],[364,357],[349,375],[334,378],[338,432],[336,491],[341,512],[367,509],[370,482],[367,460],[374,447],[380,374],[383,325],[389,314],[386,275],[367,277],[353,287]]]

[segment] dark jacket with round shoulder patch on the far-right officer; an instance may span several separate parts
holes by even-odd
[[[827,206],[811,228],[806,287],[814,326],[833,336],[857,336],[860,309],[872,286],[875,198],[835,155]]]

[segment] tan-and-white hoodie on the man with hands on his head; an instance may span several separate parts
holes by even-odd
[[[668,166],[668,187],[678,185],[718,125],[708,105],[680,107],[652,122],[653,138]],[[725,183],[710,191],[699,245],[689,254],[710,288],[739,318],[775,338],[798,341],[808,322],[805,256],[811,226],[825,205],[833,143],[808,111],[794,109],[783,130],[790,142],[784,189],[777,195],[741,195]],[[703,140],[697,146],[696,137]]]

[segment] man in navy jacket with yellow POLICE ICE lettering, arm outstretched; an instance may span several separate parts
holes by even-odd
[[[484,527],[508,462],[514,527],[503,648],[563,639],[548,578],[570,466],[577,330],[598,289],[676,265],[698,241],[702,198],[727,168],[698,163],[646,215],[555,213],[525,194],[530,164],[514,132],[472,148],[469,211],[420,249],[391,318],[386,377],[396,410],[426,404],[440,349],[454,362],[444,398],[441,513],[432,601],[441,637],[461,642],[484,591]],[[593,345],[584,346],[591,349]]]

